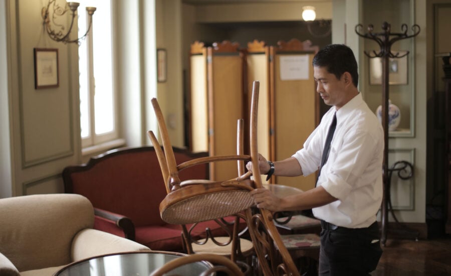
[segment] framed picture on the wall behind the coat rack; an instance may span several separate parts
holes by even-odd
[[[407,51],[391,51],[393,55],[402,56]],[[408,83],[407,57],[388,59],[388,84],[404,85]],[[370,85],[382,84],[382,58],[369,59]]]

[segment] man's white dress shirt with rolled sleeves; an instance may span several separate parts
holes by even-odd
[[[304,176],[318,170],[329,125],[336,111],[332,106],[295,157]],[[361,93],[338,109],[337,127],[317,186],[337,198],[313,208],[313,214],[329,223],[368,227],[376,221],[382,201],[383,129]]]

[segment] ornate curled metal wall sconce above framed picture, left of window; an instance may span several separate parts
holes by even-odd
[[[86,7],[86,12],[89,16],[89,26],[86,30],[86,33],[77,39],[70,40],[69,35],[72,31],[72,27],[74,26],[74,19],[77,16],[77,8],[80,6],[80,3],[77,2],[67,2],[65,7],[61,7],[59,4],[56,3],[56,0],[49,0],[49,4],[47,7],[42,8],[42,18],[44,19],[43,24],[45,25],[45,28],[47,30],[47,34],[49,34],[49,37],[57,42],[63,42],[64,44],[67,43],[77,43],[80,45],[80,40],[84,39],[86,35],[88,34],[89,30],[91,29],[92,25],[92,15],[96,11],[95,7]],[[69,30],[66,33],[64,32],[65,26],[62,24],[56,23],[56,18],[64,16],[66,12],[68,11],[72,12],[72,20],[71,25],[69,27]],[[58,28],[58,30],[55,30],[52,28],[52,24],[54,28]]]

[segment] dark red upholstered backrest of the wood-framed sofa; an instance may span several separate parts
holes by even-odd
[[[179,162],[207,156],[172,149]],[[181,179],[208,178],[208,167],[181,172]],[[155,149],[121,148],[93,157],[87,164],[63,170],[66,193],[87,197],[94,207],[129,217],[135,227],[163,225],[158,211],[166,196]]]

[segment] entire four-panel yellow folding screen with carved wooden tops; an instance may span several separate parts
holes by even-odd
[[[296,39],[288,43],[280,41],[278,46],[254,41],[241,52],[238,44],[228,41],[213,44],[213,47],[199,42],[192,44],[191,150],[208,151],[210,155],[235,154],[237,119],[245,118],[249,126],[250,93],[247,91],[251,91],[254,80],[260,81],[259,152],[277,161],[301,149],[319,122],[319,96],[311,65],[317,51],[318,47],[312,46],[310,41]],[[304,61],[302,68],[290,67],[290,62],[299,59]],[[302,69],[302,76],[292,74],[291,79],[285,79],[281,69],[287,68]],[[236,175],[237,167],[233,162],[210,167],[211,179]],[[314,175],[273,177],[270,182],[308,190],[315,186],[315,179]]]

